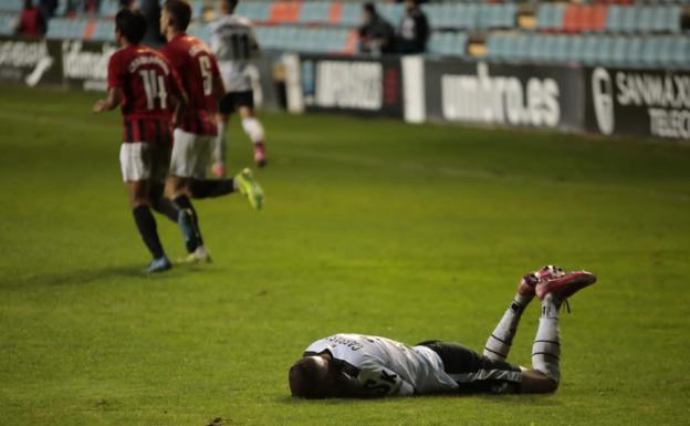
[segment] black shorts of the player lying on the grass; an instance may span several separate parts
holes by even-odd
[[[516,365],[480,355],[459,343],[437,340],[417,344],[436,352],[443,362],[443,370],[460,386],[459,392],[515,393],[522,382]]]

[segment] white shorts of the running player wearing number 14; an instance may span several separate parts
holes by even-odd
[[[125,142],[119,147],[119,166],[124,181],[164,181],[169,164],[170,146],[167,144]]]

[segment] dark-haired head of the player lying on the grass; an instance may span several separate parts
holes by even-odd
[[[290,367],[288,375],[292,396],[318,399],[334,395],[336,374],[331,359],[305,356]]]

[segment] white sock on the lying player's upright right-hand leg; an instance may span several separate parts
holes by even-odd
[[[556,383],[561,381],[561,337],[558,332],[558,309],[561,300],[546,294],[542,302],[542,318],[532,345],[532,367]]]

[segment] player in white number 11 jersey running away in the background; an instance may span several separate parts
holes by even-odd
[[[218,58],[220,74],[226,83],[226,95],[220,101],[218,137],[216,139],[216,164],[213,173],[224,174],[226,125],[236,110],[242,118],[242,129],[254,144],[254,163],[263,167],[266,163],[264,131],[254,114],[254,96],[247,73],[249,60],[259,53],[259,43],[248,19],[234,13],[238,0],[219,0],[222,15],[209,25],[211,49]]]

